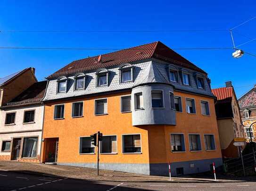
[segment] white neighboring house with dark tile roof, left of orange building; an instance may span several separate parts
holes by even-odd
[[[46,81],[0,107],[0,160],[39,162]]]

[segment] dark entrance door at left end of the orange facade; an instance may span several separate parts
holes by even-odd
[[[46,162],[57,162],[58,158],[58,138],[49,138],[46,143]]]

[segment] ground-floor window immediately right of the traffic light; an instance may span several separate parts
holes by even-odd
[[[100,141],[100,153],[116,153],[116,135],[114,136],[103,136],[102,141]]]

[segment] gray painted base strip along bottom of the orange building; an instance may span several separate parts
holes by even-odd
[[[206,159],[206,160],[190,160],[183,162],[172,162],[172,176],[177,176],[177,168],[183,168],[184,175],[206,172],[211,170],[211,164],[215,162],[215,167],[223,164],[222,158]],[[66,163],[58,162],[58,165],[97,168],[97,163]],[[168,163],[157,164],[134,164],[134,163],[99,163],[99,168],[104,170],[115,170],[143,175],[169,176]]]

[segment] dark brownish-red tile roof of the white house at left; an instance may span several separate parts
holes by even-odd
[[[37,82],[7,103],[7,106],[31,104],[40,102],[46,90],[47,81]]]

